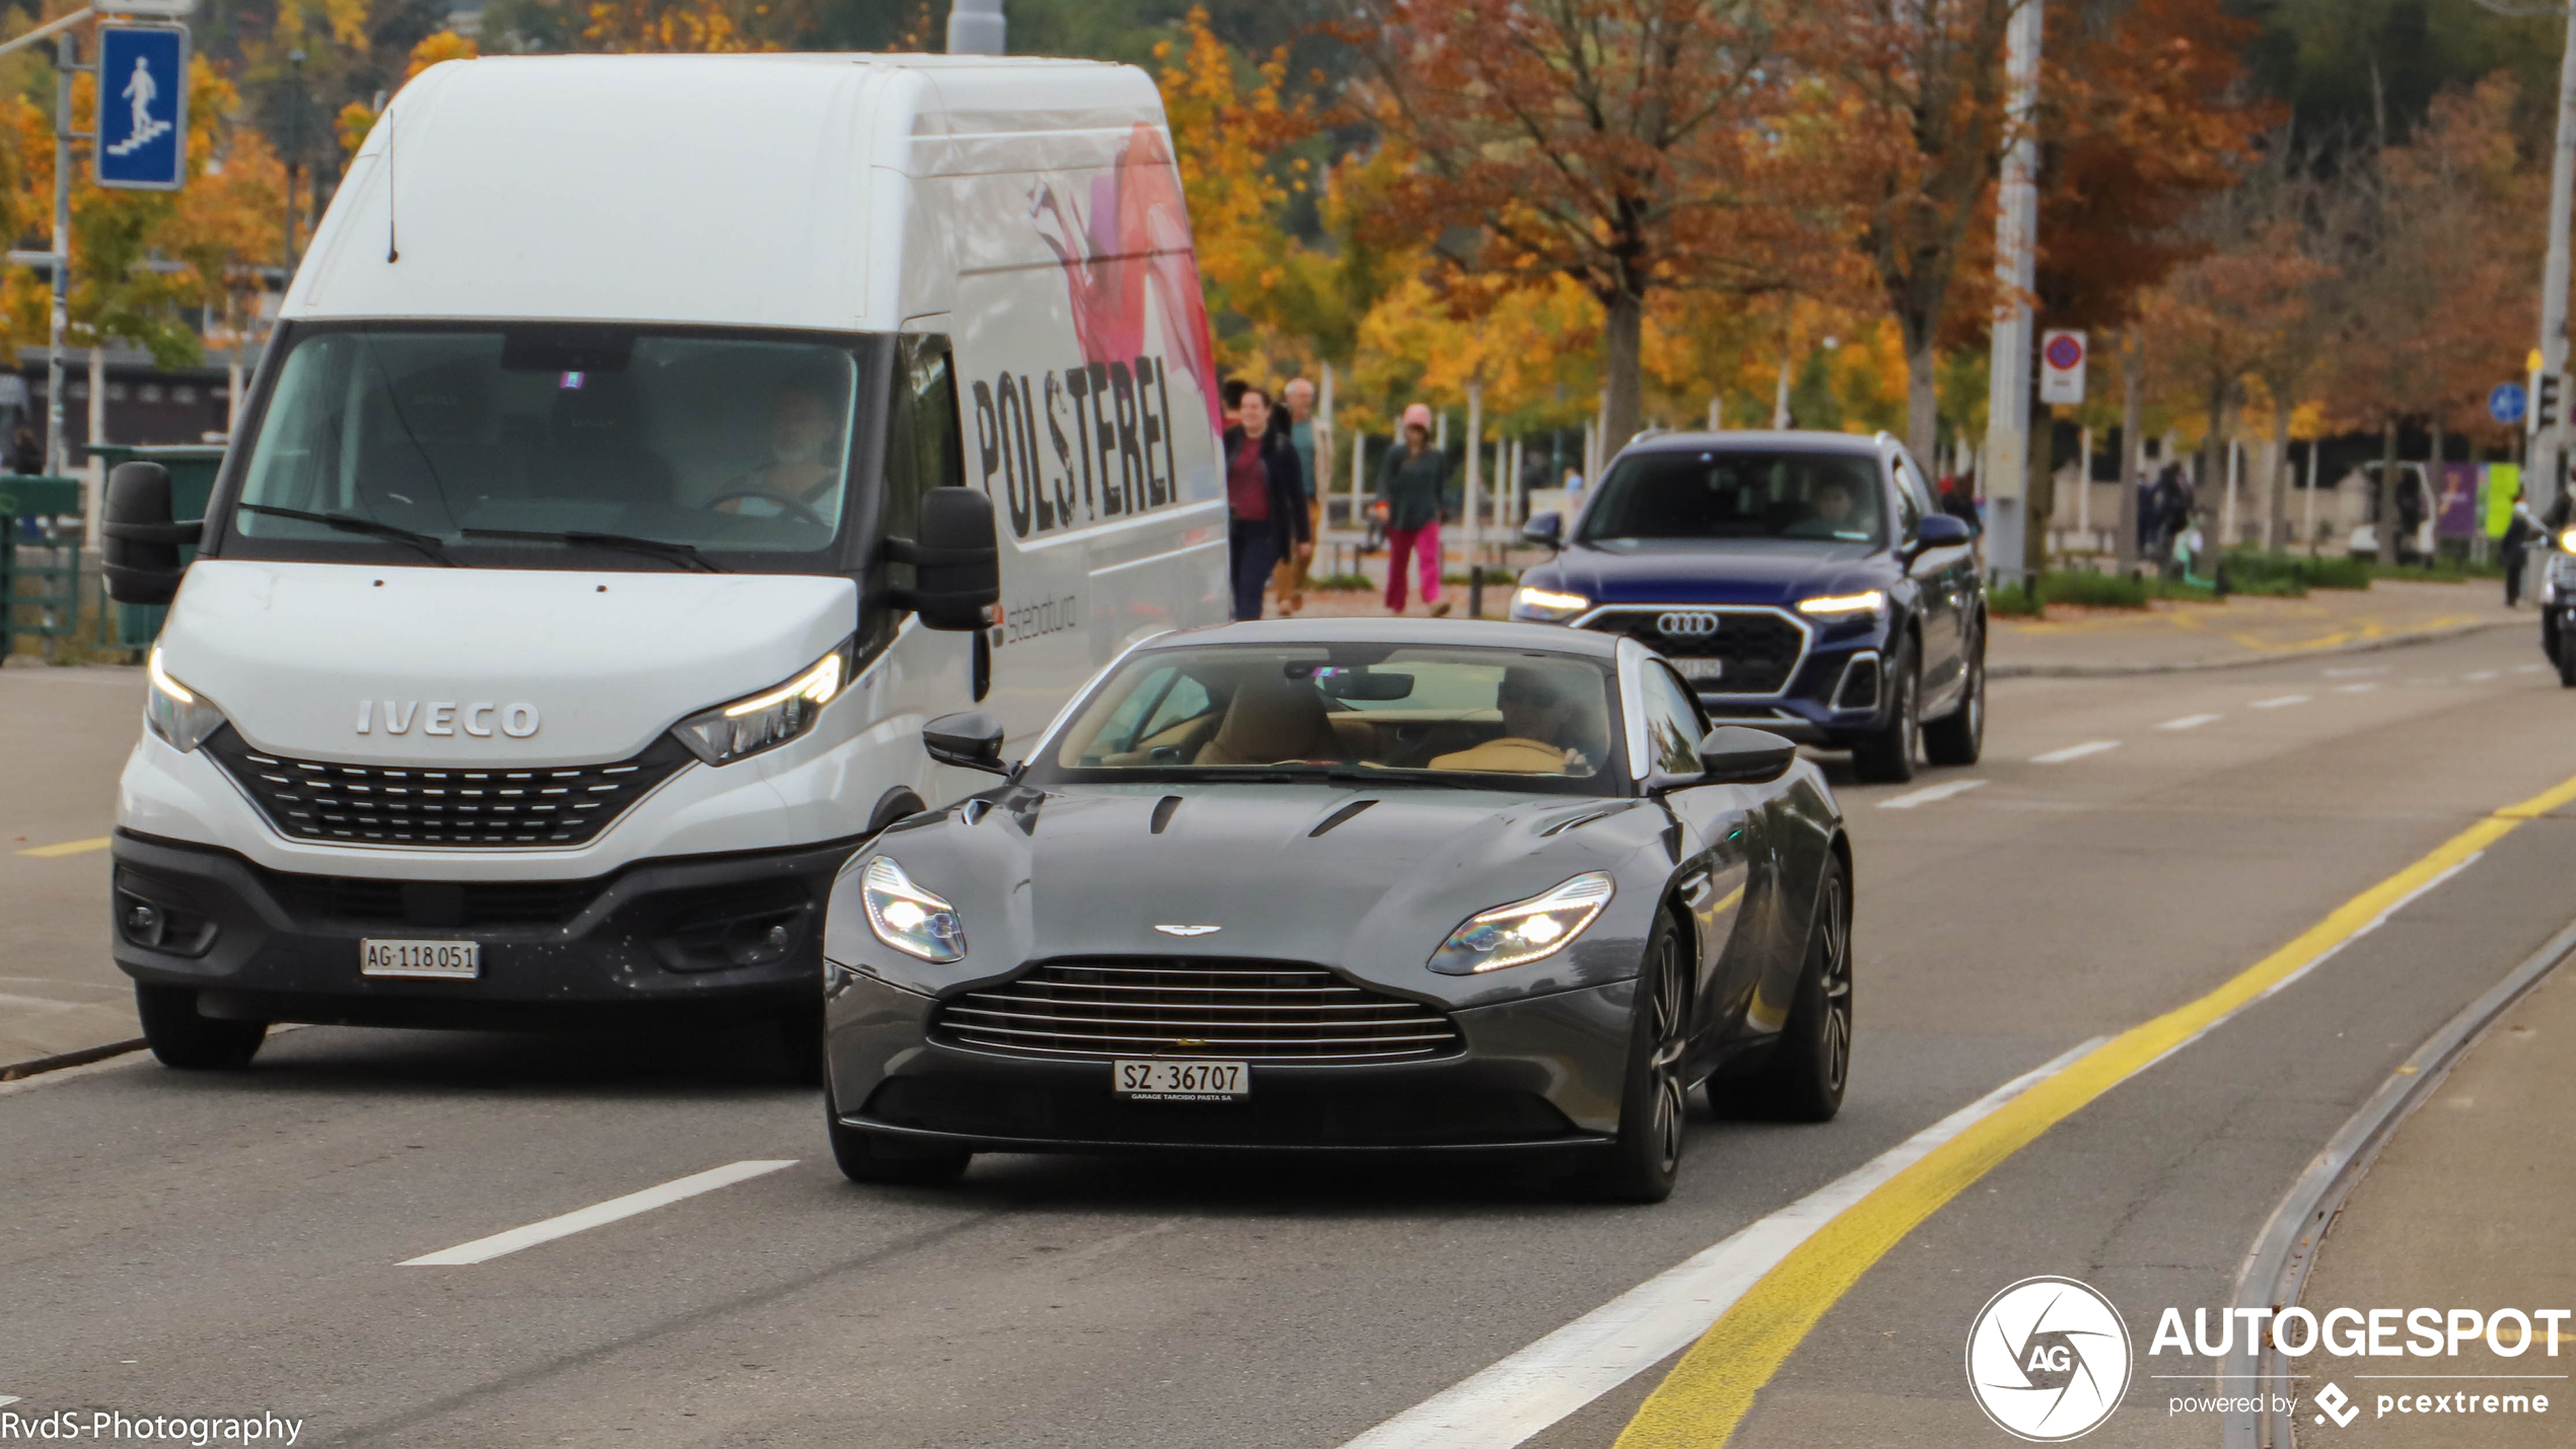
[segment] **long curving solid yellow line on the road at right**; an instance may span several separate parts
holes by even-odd
[[[1628,1421],[1618,1449],[1716,1449],[1754,1405],[1754,1392],[1770,1382],[1808,1328],[1870,1271],[1906,1233],[1976,1179],[2030,1145],[2040,1132],[2074,1117],[2094,1096],[2154,1066],[2161,1055],[2215,1027],[2290,975],[2316,965],[2406,896],[2458,870],[2481,849],[2496,844],[2524,821],[2535,821],[2576,800],[2576,777],[2530,800],[2504,806],[2432,854],[2344,901],[2298,939],[2262,957],[2208,996],[2166,1011],[2154,1022],[2102,1042],[2066,1071],[2014,1096],[1991,1117],[1935,1148],[1927,1158],[1891,1176],[1875,1192],[1793,1248],[1780,1266],[1744,1292],[1708,1333],[1682,1354],[1672,1374]]]

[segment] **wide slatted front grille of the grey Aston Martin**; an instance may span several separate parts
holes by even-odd
[[[1437,1009],[1296,963],[1051,960],[938,1006],[933,1040],[1041,1058],[1404,1060],[1461,1048]]]

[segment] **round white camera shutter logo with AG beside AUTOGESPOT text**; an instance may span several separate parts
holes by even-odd
[[[2022,1279],[1968,1328],[1968,1392],[1996,1428],[2032,1444],[2081,1439],[2128,1390],[2128,1323],[2076,1279]]]

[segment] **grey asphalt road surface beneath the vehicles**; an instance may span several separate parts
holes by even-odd
[[[314,1027],[245,1076],[126,1058],[0,1086],[0,1395],[273,1410],[322,1444],[1332,1449],[2566,780],[2571,713],[2519,631],[1999,682],[1986,764],[1842,785],[1842,1120],[1700,1120],[1662,1207],[1448,1163],[1005,1156],[953,1189],[860,1189],[752,1035]],[[2316,1145],[2576,914],[2568,829],[2514,831],[2004,1161],[1860,1277],[1736,1444],[2007,1444],[1960,1343],[2030,1274],[2102,1287],[2141,1336],[2148,1305],[2223,1305]],[[482,1264],[399,1266],[786,1158]],[[2215,1444],[2151,1372],[2089,1441]],[[1610,1444],[1659,1380],[1533,1444]]]

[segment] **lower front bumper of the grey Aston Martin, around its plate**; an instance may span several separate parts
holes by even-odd
[[[1121,1102],[1108,1060],[938,1042],[933,996],[832,968],[824,1053],[840,1122],[979,1150],[1569,1148],[1618,1132],[1633,1001],[1618,981],[1468,1006],[1453,1055],[1255,1060],[1244,1102]]]

